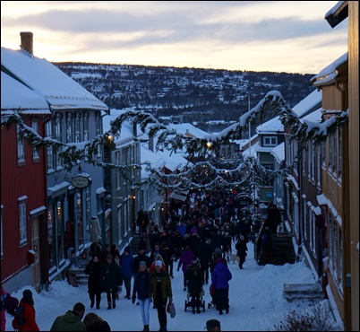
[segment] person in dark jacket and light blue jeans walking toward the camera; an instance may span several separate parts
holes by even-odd
[[[150,273],[148,271],[148,266],[146,266],[146,263],[144,261],[141,261],[140,271],[135,275],[135,279],[133,280],[132,302],[135,303],[137,296],[137,298],[139,299],[142,324],[144,326],[142,331],[149,331],[149,322],[150,322],[149,282],[150,282]]]

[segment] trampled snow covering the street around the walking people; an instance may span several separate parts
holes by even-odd
[[[184,311],[186,292],[183,290],[183,275],[181,269],[176,271],[174,264],[174,279],[172,288],[176,305],[176,318],[167,315],[167,330],[169,331],[203,331],[208,319],[219,319],[223,331],[264,331],[273,327],[280,316],[290,310],[303,310],[310,305],[308,301],[287,302],[283,297],[284,284],[312,284],[315,279],[311,269],[304,262],[284,266],[258,266],[253,258],[253,244],[248,243],[248,256],[244,269],[230,261],[228,264],[233,275],[230,281],[229,299],[230,312],[219,315],[211,301],[209,284],[204,285],[205,312],[193,314],[188,308]],[[133,286],[133,279],[132,279]],[[100,310],[90,309],[87,285],[73,287],[67,281],[56,281],[50,285],[49,291],[36,293],[31,286],[24,286],[12,295],[19,300],[22,291],[29,288],[34,297],[36,320],[42,331],[48,331],[56,316],[63,315],[66,310],[72,310],[73,304],[81,301],[86,306],[86,313],[94,311],[107,320],[113,331],[140,331],[143,326],[139,306],[124,299],[123,293],[117,301],[115,310],[107,310],[106,293],[102,294]],[[124,287],[123,287],[124,288]],[[6,290],[5,290],[6,292]],[[6,330],[13,331],[12,316],[6,313]],[[157,310],[150,307],[150,330],[159,330]]]

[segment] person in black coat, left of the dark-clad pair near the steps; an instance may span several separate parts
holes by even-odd
[[[96,297],[96,309],[100,309],[100,301],[101,301],[101,293],[102,293],[101,272],[102,272],[102,264],[98,256],[94,256],[84,270],[84,274],[89,275],[88,293],[90,298],[90,308],[94,308],[95,297]]]

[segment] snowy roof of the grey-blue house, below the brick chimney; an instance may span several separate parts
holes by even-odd
[[[23,50],[1,48],[1,66],[39,92],[51,109],[100,109],[107,105],[46,59]]]

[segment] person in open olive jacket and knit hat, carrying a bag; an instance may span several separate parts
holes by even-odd
[[[167,331],[167,300],[169,303],[173,301],[173,291],[170,275],[162,267],[161,260],[155,262],[155,268],[150,273],[149,298],[154,299],[158,310],[159,331]]]

